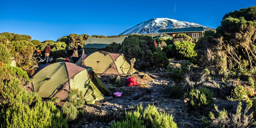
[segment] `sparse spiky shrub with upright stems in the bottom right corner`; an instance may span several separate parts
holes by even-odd
[[[242,103],[239,102],[237,105],[236,114],[230,114],[229,117],[228,112],[225,109],[219,110],[218,106],[214,105],[214,108],[218,112],[217,117],[210,112],[208,116],[212,119],[212,121],[207,121],[208,123],[204,124],[214,128],[248,128],[255,125],[253,114],[251,113],[250,115],[246,115],[251,107],[252,101],[247,100],[244,113],[241,113]]]

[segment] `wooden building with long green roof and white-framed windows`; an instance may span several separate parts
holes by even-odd
[[[191,38],[201,38],[203,34],[203,27],[191,27],[191,28],[171,28],[171,29],[160,29],[158,33],[175,36],[176,34],[186,34]]]

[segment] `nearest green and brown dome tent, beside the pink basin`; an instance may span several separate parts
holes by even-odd
[[[70,89],[82,91],[84,99],[101,100],[104,98],[103,94],[114,96],[91,67],[69,62],[57,62],[39,67],[32,79],[33,82],[26,86],[27,91],[36,92],[42,98],[57,97],[68,100]]]

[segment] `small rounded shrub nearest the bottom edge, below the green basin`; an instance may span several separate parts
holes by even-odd
[[[67,120],[67,121],[71,121],[76,119],[77,116],[77,109],[75,106],[72,105],[72,103],[65,103],[62,107],[62,114],[63,117]]]

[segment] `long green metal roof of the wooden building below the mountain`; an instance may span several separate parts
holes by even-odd
[[[203,27],[192,27],[192,28],[171,28],[171,29],[160,29],[158,33],[177,33],[177,32],[196,32],[204,31]]]

